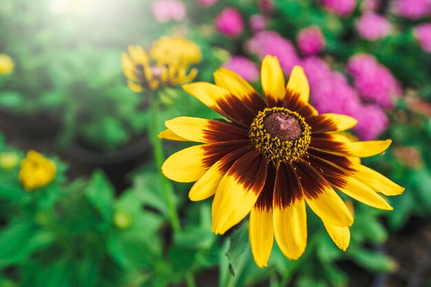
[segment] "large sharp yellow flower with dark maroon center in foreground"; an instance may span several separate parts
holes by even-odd
[[[385,151],[390,140],[351,141],[340,133],[357,121],[318,114],[308,103],[309,86],[295,66],[285,86],[280,63],[262,61],[264,98],[238,74],[220,69],[215,85],[185,85],[189,94],[228,120],[179,117],[166,122],[160,137],[201,142],[170,156],[162,172],[171,180],[196,183],[191,200],[215,195],[212,228],[223,234],[250,213],[249,236],[258,266],[266,266],[273,239],[289,259],[306,248],[306,204],[346,250],[353,215],[334,189],[379,209],[392,207],[378,193],[403,188],[360,158]]]

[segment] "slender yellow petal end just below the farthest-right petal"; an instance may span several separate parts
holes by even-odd
[[[356,180],[353,177],[343,178],[346,180],[344,186],[336,186],[337,189],[346,193],[350,198],[355,198],[359,202],[375,207],[377,209],[392,210],[392,206],[386,202],[380,195],[375,193],[366,184]]]

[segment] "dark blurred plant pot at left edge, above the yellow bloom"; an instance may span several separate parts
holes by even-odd
[[[52,140],[59,134],[61,121],[51,114],[42,112],[14,114],[8,109],[0,109],[0,128],[11,137]]]

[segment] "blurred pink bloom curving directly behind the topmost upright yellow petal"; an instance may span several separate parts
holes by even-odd
[[[286,73],[290,73],[293,66],[299,63],[299,57],[291,41],[284,39],[277,32],[258,32],[247,43],[247,50],[251,54],[257,54],[260,59],[266,55],[277,56]]]

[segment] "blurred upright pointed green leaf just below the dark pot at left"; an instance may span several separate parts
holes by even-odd
[[[95,171],[90,178],[85,196],[105,220],[111,221],[114,189],[102,171]]]

